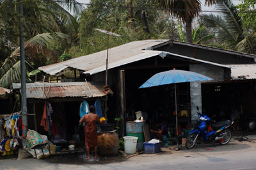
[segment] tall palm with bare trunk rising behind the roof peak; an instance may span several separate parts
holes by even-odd
[[[192,20],[199,15],[201,3],[198,0],[155,0],[159,8],[173,13],[186,25],[186,42],[192,42]]]

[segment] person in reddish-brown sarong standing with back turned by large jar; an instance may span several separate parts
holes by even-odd
[[[86,146],[86,153],[87,157],[84,158],[86,160],[90,159],[90,149],[94,148],[95,151],[95,158],[99,158],[97,155],[97,127],[96,123],[103,123],[100,122],[99,116],[95,114],[96,108],[94,105],[90,106],[90,113],[85,114],[79,123],[83,123],[85,121],[84,126],[84,135],[85,135],[85,146]]]

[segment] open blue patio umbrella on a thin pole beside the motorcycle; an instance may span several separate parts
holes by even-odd
[[[169,70],[166,72],[160,72],[153,75],[144,84],[140,86],[141,88],[150,88],[154,86],[162,86],[166,84],[174,84],[175,87],[175,113],[176,113],[176,129],[178,136],[178,117],[177,117],[177,92],[176,83],[179,82],[192,82],[192,81],[212,81],[210,77],[206,77],[200,73],[189,72],[184,70]]]

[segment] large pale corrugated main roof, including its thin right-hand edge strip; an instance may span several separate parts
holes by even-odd
[[[126,65],[135,61],[140,61],[142,59],[151,58],[152,56],[163,56],[163,55],[173,55],[179,58],[186,58],[201,63],[207,63],[210,65],[218,65],[223,67],[228,67],[225,65],[219,65],[217,63],[212,63],[200,59],[189,58],[186,56],[181,56],[179,54],[173,54],[170,52],[163,52],[152,50],[154,46],[168,42],[169,40],[144,40],[137,42],[130,42],[118,47],[113,47],[109,49],[109,64],[108,68],[115,68],[117,66]],[[68,61],[63,61],[61,63],[56,63],[54,65],[42,66],[38,68],[43,72],[55,75],[61,70],[71,67],[79,70],[84,70],[83,73],[89,73],[90,75],[102,72],[106,70],[106,50],[96,52],[87,56],[82,56],[79,58],[70,59]],[[230,68],[230,67],[228,67]]]

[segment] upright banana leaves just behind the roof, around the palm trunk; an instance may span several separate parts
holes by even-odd
[[[192,43],[204,44],[205,42],[208,42],[209,40],[214,38],[214,35],[207,35],[198,40],[198,36],[202,32],[203,27],[204,24],[200,24],[197,29],[192,29]],[[186,42],[184,32],[182,31],[182,27],[180,25],[177,26],[177,30],[179,31],[180,40],[182,42]]]

